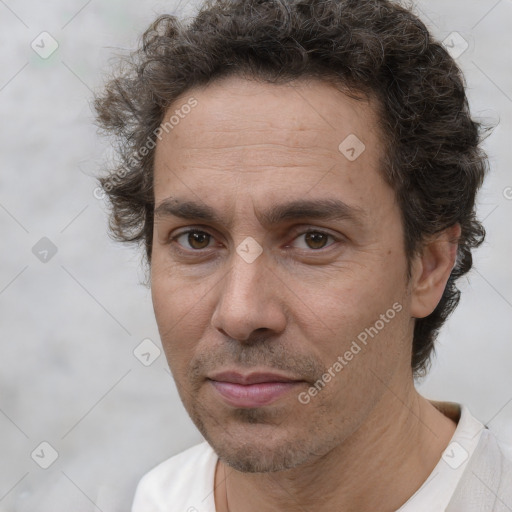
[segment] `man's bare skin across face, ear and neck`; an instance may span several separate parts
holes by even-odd
[[[226,494],[231,512],[396,510],[456,428],[418,394],[410,361],[414,318],[439,302],[460,228],[426,241],[407,279],[371,101],[315,80],[230,77],[188,91],[169,113],[190,96],[198,105],[156,147],[155,205],[195,201],[221,220],[158,215],[151,284],[180,397],[220,458],[217,511],[227,512]],[[354,161],[338,149],[349,134],[366,146]],[[276,204],[326,198],[358,220],[263,222]],[[206,235],[183,235],[191,228]],[[249,236],[263,250],[252,263],[236,251]],[[400,313],[301,403],[298,393],[395,303]],[[235,408],[207,380],[228,369],[304,382],[270,405]]]

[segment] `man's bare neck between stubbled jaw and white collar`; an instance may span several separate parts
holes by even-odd
[[[275,473],[242,473],[219,461],[216,509],[397,510],[428,478],[455,428],[412,383],[405,399],[403,387],[390,388],[350,438],[307,464]]]

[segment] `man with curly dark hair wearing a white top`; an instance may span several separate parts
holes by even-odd
[[[387,1],[163,16],[96,100],[111,227],[143,242],[205,442],[133,512],[506,511],[512,462],[415,389],[484,238],[460,70]]]

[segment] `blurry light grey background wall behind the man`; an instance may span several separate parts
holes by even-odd
[[[436,37],[467,41],[457,60],[473,115],[498,124],[479,199],[487,241],[419,389],[467,404],[512,444],[512,1],[416,8]],[[109,149],[89,105],[109,59],[157,14],[193,11],[0,0],[0,511],[126,511],[143,473],[202,440],[163,353],[149,366],[134,356],[142,340],[160,341],[139,254],[109,240],[93,193]],[[43,31],[59,44],[47,59],[30,46]],[[57,248],[46,262],[32,251],[43,237]],[[43,441],[58,453],[48,469]]]

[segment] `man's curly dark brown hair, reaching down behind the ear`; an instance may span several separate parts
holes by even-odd
[[[430,367],[440,327],[459,302],[456,280],[485,238],[476,193],[488,170],[481,141],[490,128],[471,119],[461,70],[407,9],[387,0],[207,0],[190,22],[157,18],[140,48],[121,60],[94,107],[119,156],[98,178],[108,195],[110,234],[145,245],[151,266],[155,139],[168,108],[195,86],[227,76],[267,83],[329,81],[378,105],[409,262],[422,242],[457,223],[457,261],[432,314],[416,319],[414,377]]]

